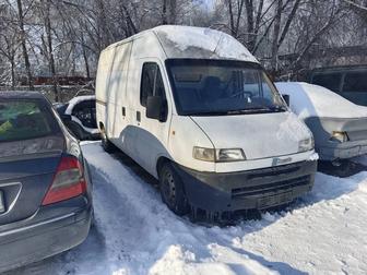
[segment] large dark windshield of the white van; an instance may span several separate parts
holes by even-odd
[[[258,64],[169,59],[166,65],[179,115],[221,116],[287,110]]]

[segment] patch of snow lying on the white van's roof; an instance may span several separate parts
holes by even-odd
[[[223,59],[259,62],[244,45],[223,32],[204,27],[174,25],[158,26],[153,31],[164,41],[166,50],[169,49],[169,44],[173,44],[179,51],[186,51],[193,47],[211,51]],[[191,58],[196,58],[196,56]]]

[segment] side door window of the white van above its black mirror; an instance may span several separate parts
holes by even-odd
[[[166,98],[159,67],[156,63],[144,63],[142,71],[140,103],[146,107],[149,96],[162,96]]]

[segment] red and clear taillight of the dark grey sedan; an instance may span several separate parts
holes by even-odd
[[[86,192],[83,167],[75,157],[62,157],[43,205],[61,202]]]

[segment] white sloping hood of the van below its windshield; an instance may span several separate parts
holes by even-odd
[[[298,153],[311,133],[292,112],[191,117],[215,148],[242,148],[247,159]]]

